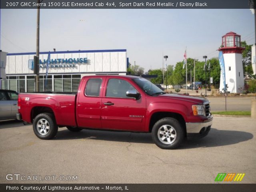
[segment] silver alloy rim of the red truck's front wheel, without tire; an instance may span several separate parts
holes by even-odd
[[[172,144],[176,140],[176,130],[170,125],[162,125],[157,132],[160,142],[163,144]]]

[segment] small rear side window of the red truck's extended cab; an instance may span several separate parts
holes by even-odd
[[[86,85],[85,94],[87,96],[100,96],[100,86],[102,80],[99,78],[89,79]]]

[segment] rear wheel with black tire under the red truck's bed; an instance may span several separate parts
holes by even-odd
[[[51,139],[58,132],[54,115],[50,113],[41,113],[36,116],[33,122],[33,130],[40,139]]]

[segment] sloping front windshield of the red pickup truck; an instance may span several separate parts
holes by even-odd
[[[144,78],[134,78],[133,81],[142,88],[142,90],[150,95],[150,96],[157,96],[160,94],[165,94],[160,88],[158,88],[152,82],[144,79]]]

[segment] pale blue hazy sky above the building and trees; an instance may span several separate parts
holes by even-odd
[[[36,52],[36,9],[0,10],[0,49]],[[218,57],[230,32],[254,44],[249,9],[41,9],[40,52],[126,49],[131,64],[150,68],[188,58]]]

